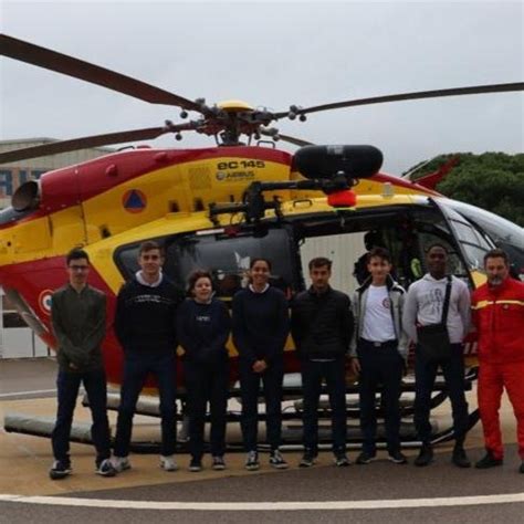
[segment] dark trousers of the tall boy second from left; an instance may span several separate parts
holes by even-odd
[[[176,357],[168,354],[128,353],[124,358],[124,376],[120,388],[120,407],[116,422],[115,454],[127,457],[133,432],[133,417],[136,402],[147,375],[157,379],[160,396],[161,448],[163,455],[175,453],[177,442],[176,422]]]

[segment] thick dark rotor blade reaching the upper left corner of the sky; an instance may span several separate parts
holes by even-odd
[[[0,33],[0,54],[102,85],[151,104],[175,105],[188,111],[201,112],[199,104],[168,91],[3,33]]]

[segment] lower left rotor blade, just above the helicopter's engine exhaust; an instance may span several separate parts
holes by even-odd
[[[117,133],[107,133],[105,135],[84,136],[71,140],[59,140],[41,146],[25,147],[13,151],[0,153],[0,164],[7,164],[17,160],[27,160],[29,158],[56,155],[57,153],[69,153],[78,149],[92,147],[108,146],[112,144],[123,144],[126,142],[147,140],[157,138],[166,133],[176,133],[195,128],[193,124],[188,122],[169,127],[145,127],[144,129],[134,129]]]

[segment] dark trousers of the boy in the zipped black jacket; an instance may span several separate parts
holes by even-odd
[[[325,380],[332,410],[333,451],[346,449],[346,379],[344,357],[331,361],[302,360],[304,392],[304,448],[316,453],[318,448],[318,399]]]

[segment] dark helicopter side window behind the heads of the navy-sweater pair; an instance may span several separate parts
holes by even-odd
[[[272,263],[271,283],[287,292],[294,282],[292,250],[284,229],[270,229],[263,237],[184,235],[166,242],[166,274],[179,286],[196,268],[213,274],[218,296],[231,297],[247,285],[247,272],[254,258],[265,258]]]

